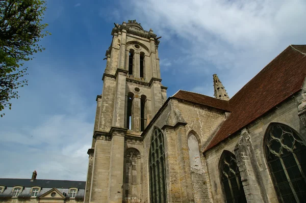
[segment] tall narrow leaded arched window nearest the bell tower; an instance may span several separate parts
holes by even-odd
[[[149,153],[150,202],[167,202],[164,135],[158,128],[152,133]]]

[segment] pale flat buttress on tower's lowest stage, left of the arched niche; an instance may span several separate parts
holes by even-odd
[[[108,177],[108,201],[111,203],[122,202],[123,166],[124,166],[124,135],[125,128],[112,127],[110,143],[110,163]],[[99,201],[104,202],[104,201]]]

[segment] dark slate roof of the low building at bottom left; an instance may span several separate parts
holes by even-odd
[[[31,179],[3,179],[0,178],[0,185],[6,187],[14,187],[17,185],[23,186],[25,188],[39,186],[42,188],[79,188],[85,189],[85,181],[63,181],[63,180],[41,180],[36,179],[31,182]]]

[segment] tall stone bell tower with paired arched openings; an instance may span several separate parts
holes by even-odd
[[[142,167],[140,135],[167,99],[161,84],[160,37],[151,29],[144,31],[136,20],[115,24],[111,34],[103,92],[96,98],[85,202],[139,202],[141,171],[134,168]],[[125,163],[128,156],[131,167]]]

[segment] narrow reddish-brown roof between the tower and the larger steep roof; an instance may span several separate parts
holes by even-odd
[[[192,103],[210,106],[210,107],[222,109],[225,111],[230,111],[230,104],[228,103],[228,101],[216,99],[216,98],[209,97],[206,95],[201,95],[198,93],[179,90],[177,93],[175,93],[172,96],[172,98],[182,99],[182,100],[189,101]]]

